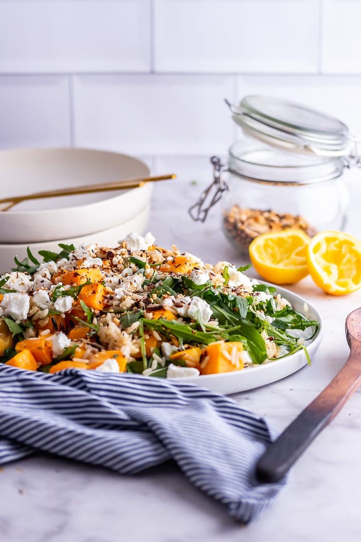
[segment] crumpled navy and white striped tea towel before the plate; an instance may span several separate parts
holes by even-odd
[[[0,464],[43,450],[135,474],[173,459],[242,523],[284,485],[255,478],[273,436],[265,420],[181,381],[0,364],[0,435]]]

